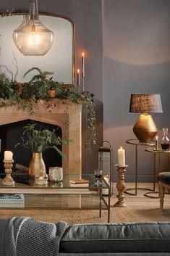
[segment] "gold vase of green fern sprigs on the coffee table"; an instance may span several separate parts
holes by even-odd
[[[42,130],[41,127],[36,128],[35,123],[29,123],[24,127],[25,131],[22,133],[21,142],[15,146],[21,145],[25,149],[30,149],[33,152],[32,160],[28,168],[29,177],[35,179],[35,176],[41,176],[40,171],[46,172],[46,165],[43,162],[42,152],[46,149],[55,149],[61,157],[65,157],[64,153],[57,147],[57,145],[67,144],[72,142],[71,139],[64,139],[56,136],[55,130]]]

